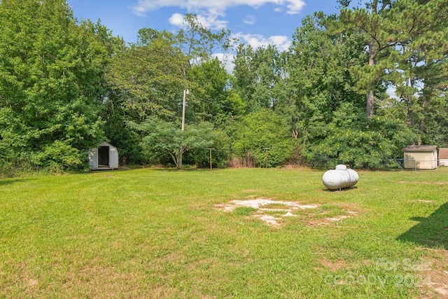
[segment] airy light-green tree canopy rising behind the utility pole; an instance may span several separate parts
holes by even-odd
[[[137,43],[114,57],[107,78],[120,93],[129,120],[141,122],[147,116],[165,120],[179,117],[179,98],[182,100],[186,89],[197,92],[198,99],[189,97],[190,105],[200,105],[203,97],[223,101],[216,97],[225,93],[228,77],[211,57],[217,47],[227,47],[228,31],[213,33],[190,14],[186,15],[185,24],[186,29],[176,34],[140,29]],[[217,73],[209,76],[213,71]],[[208,76],[207,86],[196,82],[204,76]],[[194,108],[199,110],[197,113],[205,112],[197,106]]]

